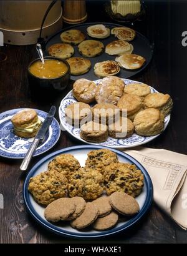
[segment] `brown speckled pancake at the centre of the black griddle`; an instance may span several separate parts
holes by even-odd
[[[85,40],[78,46],[80,54],[85,57],[95,57],[100,55],[105,46],[102,42],[96,40]]]

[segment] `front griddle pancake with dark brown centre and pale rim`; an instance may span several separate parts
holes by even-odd
[[[115,76],[120,72],[120,66],[116,61],[102,61],[98,62],[94,66],[95,76]]]

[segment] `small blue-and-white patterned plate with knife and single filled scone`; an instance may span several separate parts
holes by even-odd
[[[12,109],[0,114],[0,156],[12,158],[12,159],[23,159],[29,149],[33,138],[24,139],[14,134],[14,128],[12,126],[11,118],[18,111],[22,109]],[[47,113],[35,109],[39,119],[44,121]],[[47,150],[51,149],[59,140],[60,137],[60,126],[57,120],[54,118],[49,126],[49,130],[46,132],[45,138],[34,154],[40,155]]]

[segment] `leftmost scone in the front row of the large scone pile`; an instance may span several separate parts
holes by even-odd
[[[89,142],[103,142],[108,139],[108,126],[96,122],[87,122],[80,127],[80,137]]]

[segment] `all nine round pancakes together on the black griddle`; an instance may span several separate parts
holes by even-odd
[[[110,33],[118,38],[107,46],[98,40],[86,40],[84,32],[77,29],[70,29],[62,32],[60,39],[62,43],[52,44],[48,52],[50,56],[67,59],[70,65],[70,72],[74,76],[79,76],[88,72],[91,68],[91,62],[84,57],[95,57],[102,54],[103,51],[110,56],[117,56],[113,61],[97,62],[94,66],[95,75],[98,77],[114,76],[123,69],[139,69],[145,63],[145,58],[132,54],[133,46],[129,43],[135,38],[135,31],[128,27],[109,28],[103,24],[87,27],[87,34],[96,39],[104,39],[110,36]],[[79,53],[84,57],[72,57],[74,47],[78,45]]]

